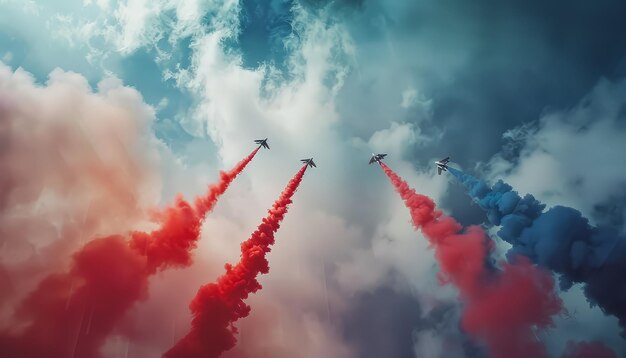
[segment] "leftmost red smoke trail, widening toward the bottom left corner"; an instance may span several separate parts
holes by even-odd
[[[195,208],[177,197],[159,212],[159,229],[88,242],[73,254],[68,272],[47,276],[16,310],[15,324],[0,332],[0,356],[98,358],[124,314],[147,296],[148,278],[167,267],[191,264],[204,216],[246,167],[258,148],[229,172]]]

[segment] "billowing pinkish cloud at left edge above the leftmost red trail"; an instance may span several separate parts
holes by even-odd
[[[153,109],[116,78],[93,91],[57,69],[37,85],[0,63],[0,118],[0,269],[12,282],[1,288],[4,317],[86,240],[145,222],[161,197],[164,147]]]

